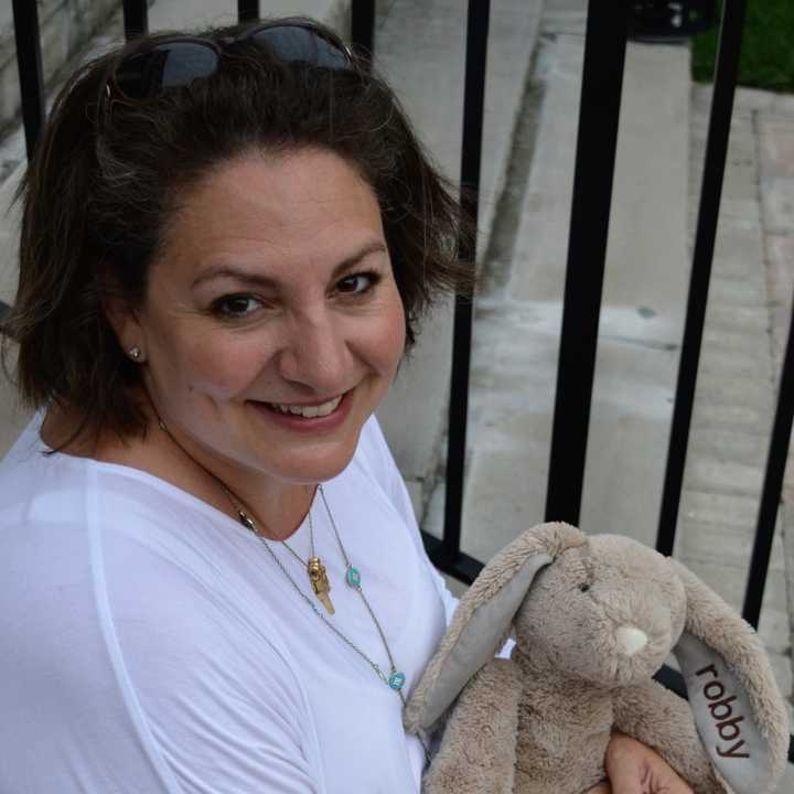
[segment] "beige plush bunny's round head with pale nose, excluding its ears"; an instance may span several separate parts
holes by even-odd
[[[519,651],[538,669],[601,687],[646,680],[685,625],[686,590],[670,561],[624,537],[551,535],[564,545],[514,616]]]

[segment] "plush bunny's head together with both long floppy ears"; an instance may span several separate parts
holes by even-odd
[[[729,785],[760,792],[781,774],[787,713],[751,626],[678,562],[566,524],[525,532],[485,566],[409,698],[408,730],[432,729],[511,630],[538,675],[602,689],[647,680],[672,651]]]

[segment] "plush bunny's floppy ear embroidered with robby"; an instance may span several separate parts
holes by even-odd
[[[717,593],[672,562],[687,594],[674,653],[698,733],[736,794],[771,792],[786,764],[788,713],[763,645]]]

